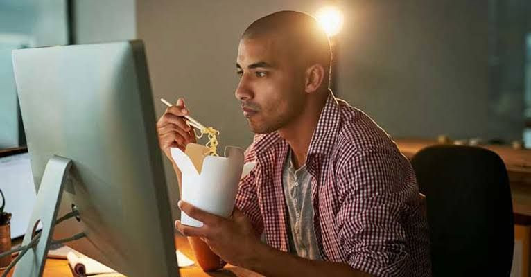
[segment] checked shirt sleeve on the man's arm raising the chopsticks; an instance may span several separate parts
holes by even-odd
[[[245,150],[245,163],[254,161],[252,145]],[[263,231],[262,215],[259,206],[259,200],[256,196],[256,171],[257,166],[251,172],[240,180],[238,193],[236,194],[236,204],[238,210],[251,221],[256,235],[261,235]]]

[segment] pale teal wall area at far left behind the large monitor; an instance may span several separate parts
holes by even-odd
[[[11,51],[67,44],[65,0],[0,1],[0,150],[25,145]]]

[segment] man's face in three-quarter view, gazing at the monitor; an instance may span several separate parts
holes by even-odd
[[[252,132],[275,132],[302,114],[306,101],[304,71],[279,37],[242,39],[235,96]]]

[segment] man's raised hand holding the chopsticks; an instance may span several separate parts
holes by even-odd
[[[168,107],[157,121],[160,148],[172,163],[170,148],[177,147],[184,151],[188,143],[195,143],[195,133],[183,118],[188,113],[184,100],[179,98],[177,104]]]

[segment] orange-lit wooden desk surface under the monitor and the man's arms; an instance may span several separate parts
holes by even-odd
[[[189,258],[192,258],[192,260],[195,261],[195,257],[193,256],[190,245],[188,244],[188,240],[186,240],[185,237],[183,237],[182,235],[175,235],[175,246],[182,253],[184,253],[184,255],[188,256]],[[14,269],[11,270],[8,276],[12,276],[13,271]],[[3,271],[0,271],[0,274],[1,273],[3,273]],[[257,277],[257,276],[261,276],[260,274],[256,274],[253,271],[243,269],[240,267],[235,267],[234,265],[226,265],[223,269],[207,273],[207,272],[202,271],[202,269],[197,265],[197,262],[195,262],[195,265],[193,265],[192,267],[181,268],[180,274],[181,276],[184,276],[184,277],[200,277],[200,276]],[[49,258],[48,260],[46,260],[46,266],[44,267],[43,276],[44,277],[71,277],[72,273],[70,271],[70,267],[68,265],[67,260]]]

